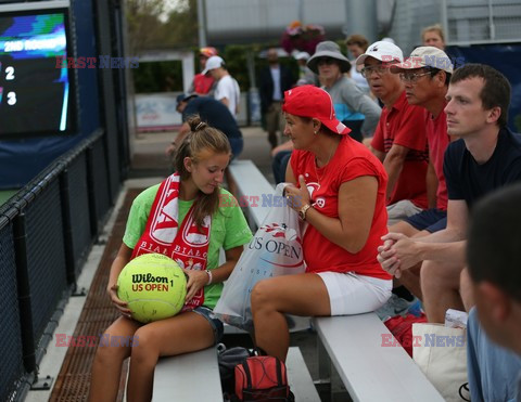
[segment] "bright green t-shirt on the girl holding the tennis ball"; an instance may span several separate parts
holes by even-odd
[[[152,204],[160,184],[147,189],[139,194],[132,203],[127,220],[127,229],[123,236],[123,243],[129,248],[136,247],[141,237],[149,219]],[[219,267],[219,251],[223,247],[228,250],[242,246],[252,238],[252,231],[233,196],[224,189],[220,189],[220,205],[212,218],[209,232],[208,261],[206,269],[214,270]],[[179,199],[179,222],[187,216],[193,200]],[[223,291],[223,283],[212,284],[204,287],[204,306],[213,309]]]

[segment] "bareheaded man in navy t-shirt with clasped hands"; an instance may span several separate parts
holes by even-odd
[[[428,320],[443,323],[447,309],[473,304],[465,257],[469,213],[487,193],[521,181],[521,138],[507,126],[510,83],[498,70],[467,64],[454,72],[446,94],[452,142],[443,171],[448,190],[447,226],[428,236],[383,237],[382,268],[401,276],[421,262],[420,284]],[[463,306],[465,304],[465,306]]]

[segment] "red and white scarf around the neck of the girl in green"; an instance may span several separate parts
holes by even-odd
[[[201,230],[193,220],[193,205],[179,228],[180,177],[174,173],[166,178],[155,196],[143,234],[139,238],[132,257],[157,252],[175,260],[187,270],[206,270],[212,217],[203,220]],[[204,302],[204,287],[185,303],[182,311],[192,310]]]

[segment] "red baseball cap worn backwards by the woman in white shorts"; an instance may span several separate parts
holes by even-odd
[[[336,119],[330,94],[315,86],[301,86],[285,91],[282,111],[295,116],[316,118],[338,134],[351,132],[351,129]]]

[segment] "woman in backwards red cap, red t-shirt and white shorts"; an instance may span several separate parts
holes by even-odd
[[[307,223],[306,272],[260,281],[252,291],[255,342],[285,360],[284,314],[303,316],[373,311],[391,296],[391,276],[377,260],[387,233],[385,170],[339,121],[330,95],[303,86],[284,93],[285,130],[294,151],[288,204]]]

